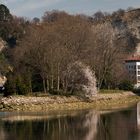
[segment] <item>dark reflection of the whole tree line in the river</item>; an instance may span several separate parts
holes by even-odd
[[[6,134],[2,140],[132,140],[137,129],[135,110],[101,115],[81,111],[51,119],[0,123],[0,135]]]

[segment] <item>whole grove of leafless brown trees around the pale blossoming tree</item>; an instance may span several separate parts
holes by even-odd
[[[103,22],[94,24],[82,16],[59,11],[45,12],[40,24],[14,18],[15,29],[6,33],[17,40],[17,47],[9,49],[12,57],[7,55],[14,65],[16,88],[45,93],[72,91],[86,81],[78,66],[70,68],[76,62],[95,71],[99,88],[118,87],[123,77],[122,60],[131,37],[123,30],[127,36],[124,39],[120,35],[122,30],[119,32],[112,20],[106,21],[110,15],[96,16]],[[77,77],[71,78],[74,75]]]

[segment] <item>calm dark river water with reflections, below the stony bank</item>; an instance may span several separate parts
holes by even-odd
[[[140,103],[109,111],[0,112],[0,140],[140,140]]]

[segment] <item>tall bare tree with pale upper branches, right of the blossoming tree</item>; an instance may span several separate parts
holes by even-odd
[[[92,37],[90,46],[87,49],[89,54],[89,63],[95,70],[98,88],[112,88],[117,71],[121,68],[123,48],[118,45],[118,31],[114,29],[111,23],[94,25],[92,27]],[[92,44],[92,45],[91,45]],[[116,85],[116,84],[115,84]]]

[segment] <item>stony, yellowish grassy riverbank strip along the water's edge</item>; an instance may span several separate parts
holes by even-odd
[[[0,99],[0,111],[105,110],[128,107],[138,101],[140,97],[132,92],[98,94],[92,101],[78,96],[9,96]]]

